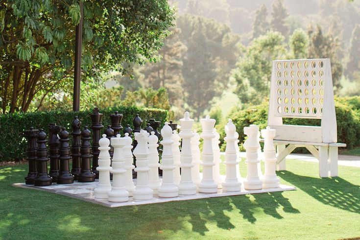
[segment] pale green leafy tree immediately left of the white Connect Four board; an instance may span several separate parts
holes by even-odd
[[[269,31],[253,40],[240,57],[231,77],[242,103],[259,104],[269,96],[272,61],[285,56],[284,36]]]

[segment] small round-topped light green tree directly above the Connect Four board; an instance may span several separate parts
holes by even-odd
[[[308,55],[309,36],[302,28],[294,30],[289,37],[290,58],[301,59]]]

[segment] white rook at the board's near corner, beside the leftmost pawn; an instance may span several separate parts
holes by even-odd
[[[112,163],[113,184],[111,191],[108,193],[109,202],[127,202],[129,200],[129,192],[124,186],[124,173],[126,172],[124,165],[124,151],[125,139],[120,137],[111,138],[111,145],[114,147],[114,156]]]

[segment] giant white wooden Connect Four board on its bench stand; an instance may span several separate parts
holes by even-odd
[[[284,125],[283,118],[321,119],[321,126]],[[320,177],[337,176],[336,115],[330,59],[273,61],[268,125],[276,129],[279,170],[286,156],[306,147],[319,160]]]

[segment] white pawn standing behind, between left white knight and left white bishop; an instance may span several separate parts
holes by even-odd
[[[158,137],[154,135],[155,132],[152,131],[151,135],[147,138],[147,142],[149,143],[149,186],[154,191],[154,194],[158,193],[158,189],[160,187],[160,179],[159,179],[159,152],[157,147]]]

